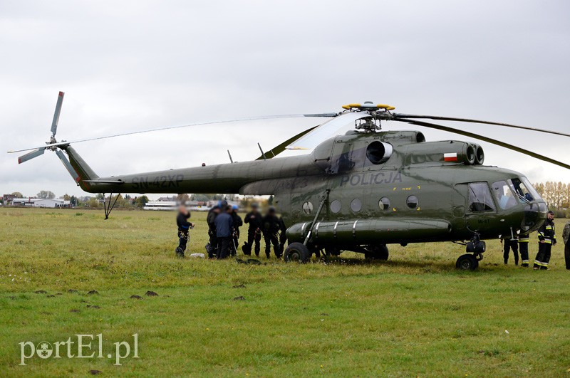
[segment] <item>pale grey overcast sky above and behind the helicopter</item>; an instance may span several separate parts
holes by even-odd
[[[84,194],[56,154],[18,165],[5,153],[48,140],[59,90],[58,140],[365,100],[570,132],[569,20],[569,1],[0,0],[0,194]],[[239,122],[75,147],[108,176],[228,162],[226,149],[252,159],[257,142],[269,149],[316,123]],[[460,126],[570,162],[570,138]],[[421,130],[385,124],[396,127]],[[486,164],[570,182],[569,170],[480,144]]]

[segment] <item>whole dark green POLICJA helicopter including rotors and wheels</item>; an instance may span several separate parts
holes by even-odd
[[[115,204],[111,203],[113,193],[272,194],[287,226],[285,261],[306,262],[318,251],[333,256],[354,251],[366,258],[387,260],[388,244],[452,241],[465,245],[466,250],[457,259],[457,268],[473,271],[483,257],[485,239],[515,238],[536,230],[546,219],[546,203],[524,174],[484,166],[480,145],[457,140],[427,142],[419,131],[382,130],[383,121],[454,132],[570,169],[569,164],[541,154],[425,120],[474,122],[570,137],[562,132],[400,114],[393,112],[393,106],[366,102],[344,105],[341,112],[249,118],[331,118],[267,152],[259,146],[261,156],[253,161],[233,162],[230,155],[228,164],[99,177],[71,145],[106,137],[58,142],[62,102],[61,92],[50,141],[19,157],[19,163],[46,150],[56,152],[81,189],[111,194],[105,218]],[[336,135],[351,122],[354,130]],[[169,128],[174,127],[142,132]],[[108,137],[116,136],[120,135]],[[276,157],[285,149],[301,148],[313,150],[295,157]]]

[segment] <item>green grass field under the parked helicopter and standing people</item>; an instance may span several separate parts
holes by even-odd
[[[187,254],[204,252],[207,237],[205,214],[192,216],[197,227]],[[488,242],[480,270],[470,273],[455,271],[463,247],[452,243],[390,246],[387,262],[348,254],[306,265],[261,258],[254,266],[175,258],[174,217],[115,211],[103,221],[103,211],[0,209],[1,375],[570,371],[570,272],[562,243],[549,271],[504,266],[499,241]],[[564,221],[557,224],[561,234]],[[531,259],[536,251],[531,243]],[[106,353],[114,342],[132,344],[135,333],[139,358],[115,366]],[[20,342],[53,344],[76,334],[103,334],[105,357],[62,352],[19,365]]]

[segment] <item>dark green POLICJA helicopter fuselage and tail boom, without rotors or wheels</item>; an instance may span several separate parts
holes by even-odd
[[[64,149],[92,193],[272,194],[289,241],[312,231],[318,248],[512,238],[546,219],[524,175],[483,166],[478,145],[416,131],[348,132],[298,157],[105,178]]]

